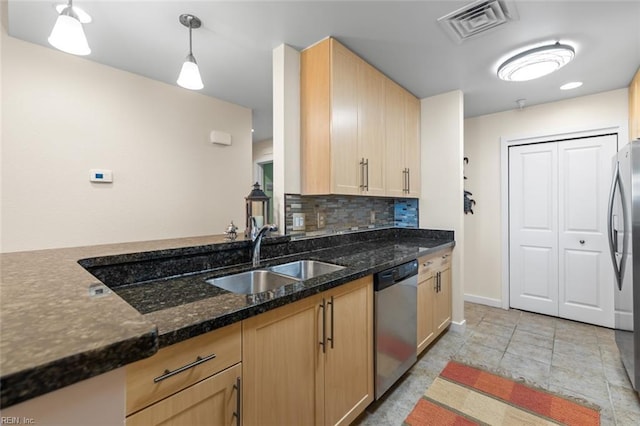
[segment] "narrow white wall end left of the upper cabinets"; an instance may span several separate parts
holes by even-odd
[[[273,49],[273,216],[284,230],[284,194],[300,193],[300,52]]]

